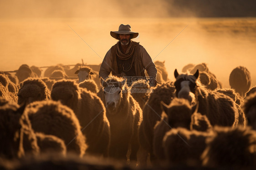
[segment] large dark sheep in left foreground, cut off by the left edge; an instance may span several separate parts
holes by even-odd
[[[0,97],[0,156],[2,158],[21,158],[25,155],[38,155],[36,135],[26,115],[24,106]]]

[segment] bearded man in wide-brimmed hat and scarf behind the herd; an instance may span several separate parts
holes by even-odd
[[[99,77],[104,80],[112,75],[125,76],[127,80],[146,79],[147,70],[150,85],[156,85],[157,70],[148,52],[142,45],[131,39],[138,36],[137,32],[131,31],[130,25],[119,26],[118,31],[110,31],[110,35],[119,40],[105,55],[99,71]]]

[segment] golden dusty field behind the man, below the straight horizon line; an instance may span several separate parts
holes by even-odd
[[[239,65],[256,85],[256,18],[0,19],[0,70],[22,64],[99,64],[117,40],[109,32],[130,24],[154,61],[165,60],[169,78],[188,63],[205,62],[224,87]]]

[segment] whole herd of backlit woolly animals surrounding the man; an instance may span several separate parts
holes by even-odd
[[[158,85],[98,78],[100,65],[0,72],[3,169],[251,168],[256,165],[256,86],[243,66],[230,88],[205,63]],[[172,73],[173,74],[173,73]],[[143,89],[143,90],[142,90]]]

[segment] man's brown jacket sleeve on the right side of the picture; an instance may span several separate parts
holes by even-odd
[[[143,46],[140,49],[140,55],[142,56],[142,65],[147,70],[149,77],[156,78],[157,70],[155,64]]]

